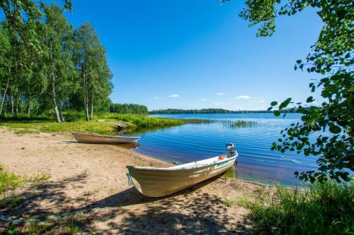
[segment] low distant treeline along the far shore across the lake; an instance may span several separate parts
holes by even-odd
[[[152,110],[149,114],[246,114],[246,113],[271,113],[267,110],[227,110],[227,109],[160,109]],[[296,112],[296,110],[282,110],[282,112]]]

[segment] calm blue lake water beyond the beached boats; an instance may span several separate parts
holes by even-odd
[[[178,164],[215,157],[226,143],[236,143],[239,152],[236,173],[240,179],[262,183],[293,185],[294,171],[314,169],[315,157],[296,152],[271,151],[280,131],[296,123],[300,114],[287,114],[285,119],[273,114],[159,114],[171,119],[212,119],[212,123],[190,123],[139,133],[140,146],[134,151]],[[232,121],[254,121],[251,126],[236,127]]]

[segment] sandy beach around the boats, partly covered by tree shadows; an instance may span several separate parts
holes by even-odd
[[[71,139],[56,133],[16,135],[0,128],[0,164],[16,174],[51,176],[38,186],[16,190],[25,200],[15,208],[0,206],[1,214],[33,218],[79,210],[74,219],[82,234],[254,233],[248,211],[236,202],[259,196],[263,186],[215,177],[164,198],[148,198],[128,186],[125,166],[169,163],[127,147],[70,143]],[[0,222],[0,228],[6,226]],[[62,231],[52,229],[49,234]]]

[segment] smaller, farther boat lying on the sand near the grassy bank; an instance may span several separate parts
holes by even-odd
[[[137,143],[139,136],[128,135],[98,135],[95,133],[72,133],[80,143],[112,144]]]

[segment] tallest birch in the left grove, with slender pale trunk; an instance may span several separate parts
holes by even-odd
[[[60,102],[64,93],[68,92],[69,80],[74,77],[74,64],[70,54],[70,41],[74,36],[74,29],[62,15],[64,9],[55,4],[43,6],[43,9],[45,20],[39,26],[43,52],[41,69],[48,79],[48,90],[56,120],[61,122]]]

